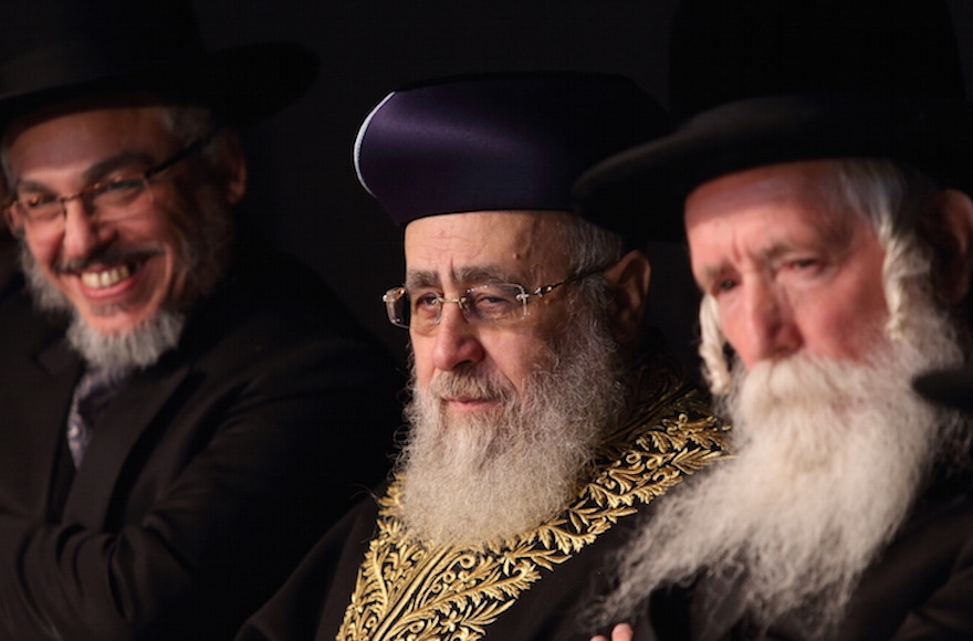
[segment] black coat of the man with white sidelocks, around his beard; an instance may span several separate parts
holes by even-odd
[[[732,590],[715,601],[704,586],[656,595],[651,618],[662,641],[814,641],[788,621],[758,633],[734,610]],[[695,592],[695,593],[694,593]],[[712,595],[711,595],[712,596]],[[851,596],[835,641],[973,639],[973,491],[969,479],[934,485]]]

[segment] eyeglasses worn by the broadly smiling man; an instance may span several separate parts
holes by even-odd
[[[38,231],[53,232],[55,228],[64,224],[64,219],[67,217],[67,203],[75,199],[80,199],[85,209],[98,220],[109,220],[137,212],[148,203],[149,180],[153,177],[200,153],[211,139],[212,135],[202,136],[145,171],[134,176],[124,174],[113,176],[107,180],[93,182],[67,196],[44,191],[18,195],[4,207],[8,222],[12,228],[15,228],[20,222],[25,222]]]

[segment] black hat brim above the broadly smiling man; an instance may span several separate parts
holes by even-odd
[[[263,118],[300,97],[315,80],[317,56],[293,42],[248,44],[179,56],[169,64],[139,67],[119,63],[111,73],[52,65],[25,87],[0,95],[0,128],[35,109],[108,92],[150,92],[211,107],[226,123],[242,126]],[[24,65],[28,69],[28,65]]]

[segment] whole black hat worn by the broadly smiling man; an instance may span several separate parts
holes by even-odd
[[[0,21],[0,128],[36,108],[108,92],[153,92],[242,125],[317,73],[296,43],[207,51],[188,0],[28,0]]]

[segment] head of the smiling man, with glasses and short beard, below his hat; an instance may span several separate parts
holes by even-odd
[[[14,120],[4,138],[15,195],[7,211],[22,232],[32,288],[42,306],[73,315],[69,337],[90,364],[116,369],[151,365],[176,346],[182,313],[226,270],[226,209],[245,185],[229,130],[186,146],[171,123],[192,112],[154,102],[57,103]],[[201,128],[203,112],[195,116]],[[222,201],[199,188],[174,189],[210,144]]]

